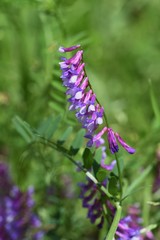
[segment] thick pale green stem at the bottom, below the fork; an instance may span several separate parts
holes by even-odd
[[[119,205],[119,203],[117,203],[116,207],[117,207],[117,211],[116,211],[116,214],[114,216],[112,225],[111,225],[111,227],[109,229],[109,232],[106,235],[104,240],[113,240],[114,239],[114,236],[115,236],[115,233],[116,233],[116,230],[117,230],[117,227],[118,227],[118,223],[121,219],[121,212],[122,212],[122,207]]]

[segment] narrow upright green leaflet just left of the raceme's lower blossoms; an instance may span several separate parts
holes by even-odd
[[[85,135],[85,129],[81,129],[75,136],[75,138],[71,144],[71,147],[70,147],[71,155],[76,155],[77,152],[79,151],[79,149],[81,148],[83,139],[84,139],[84,135]]]

